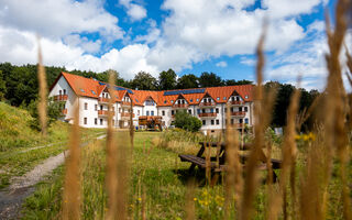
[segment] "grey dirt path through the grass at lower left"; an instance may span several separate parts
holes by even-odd
[[[96,139],[99,140],[105,136],[106,135],[100,135]],[[88,143],[84,143],[81,146],[87,144]],[[22,202],[28,196],[34,193],[34,185],[63,164],[67,153],[66,151],[56,156],[51,156],[25,175],[12,178],[10,187],[0,191],[0,220],[19,219]]]

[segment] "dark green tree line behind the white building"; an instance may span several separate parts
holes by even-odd
[[[46,80],[51,86],[61,72],[66,72],[79,75],[87,78],[95,78],[100,81],[108,81],[109,72],[114,72],[117,75],[116,84],[131,89],[140,90],[169,90],[169,89],[188,89],[199,87],[219,87],[219,86],[234,86],[234,85],[252,85],[250,80],[233,80],[221,79],[215,73],[202,73],[199,77],[194,74],[186,74],[177,77],[173,69],[164,70],[155,78],[145,72],[138,73],[133,79],[127,80],[120,77],[116,70],[107,70],[102,73],[82,72],[82,70],[67,70],[65,67],[46,66]],[[0,64],[0,100],[4,100],[12,106],[28,107],[37,98],[37,66],[22,65],[16,66],[10,63]],[[289,84],[280,84],[277,81],[270,81],[265,84],[265,88],[275,86],[277,88],[277,98],[274,106],[273,122],[275,127],[283,127],[286,124],[286,112],[289,105],[289,98],[295,87]],[[307,91],[300,89],[300,112],[308,109],[314,99],[319,96],[318,90]]]

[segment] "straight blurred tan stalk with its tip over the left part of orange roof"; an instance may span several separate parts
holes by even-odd
[[[106,218],[109,220],[118,217],[118,198],[117,198],[117,141],[112,128],[113,112],[113,85],[116,76],[109,73],[109,103],[108,103],[108,131],[107,131],[107,178],[106,185],[108,190],[108,211]]]

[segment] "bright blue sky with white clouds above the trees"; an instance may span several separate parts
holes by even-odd
[[[254,80],[262,21],[266,80],[323,87],[328,0],[0,0],[0,62],[36,63],[36,34],[45,65],[124,78],[213,72]],[[350,41],[351,42],[351,41]]]

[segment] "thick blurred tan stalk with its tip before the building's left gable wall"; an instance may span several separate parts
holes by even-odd
[[[74,108],[74,124],[69,138],[69,155],[66,158],[63,219],[80,219],[80,146],[79,146],[79,98]]]

